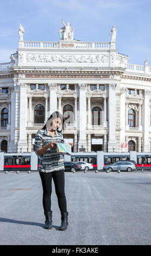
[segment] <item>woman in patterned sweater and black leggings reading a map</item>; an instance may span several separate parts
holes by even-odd
[[[57,153],[57,142],[64,142],[62,130],[64,119],[58,111],[50,115],[47,123],[35,136],[35,153],[39,157],[38,167],[43,187],[43,209],[45,215],[45,228],[52,228],[51,211],[51,181],[54,180],[55,191],[58,199],[58,206],[61,211],[60,230],[67,229],[68,211],[67,201],[64,193],[64,157]],[[71,147],[73,147],[73,143]]]

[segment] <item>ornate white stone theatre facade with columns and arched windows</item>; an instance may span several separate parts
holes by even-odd
[[[129,64],[110,42],[24,41],[0,63],[1,150],[34,150],[50,114],[67,119],[73,151],[149,152],[151,68]],[[70,118],[68,118],[70,116]]]

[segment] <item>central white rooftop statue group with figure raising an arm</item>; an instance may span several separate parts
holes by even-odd
[[[63,19],[62,24],[64,25],[64,27],[62,27],[58,32],[60,35],[60,40],[74,40],[74,28],[70,27],[69,22],[67,22],[67,25],[65,25]]]

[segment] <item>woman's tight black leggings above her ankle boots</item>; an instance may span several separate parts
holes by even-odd
[[[51,173],[39,172],[43,186],[43,209],[45,212],[51,210],[52,178],[55,184],[55,191],[58,199],[58,206],[61,212],[67,212],[67,202],[64,193],[64,170]]]

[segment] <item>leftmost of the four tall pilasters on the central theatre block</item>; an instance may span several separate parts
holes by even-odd
[[[18,83],[20,87],[20,113],[19,113],[19,141],[17,143],[17,152],[27,152],[26,139],[26,112],[27,112],[27,84]]]

